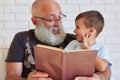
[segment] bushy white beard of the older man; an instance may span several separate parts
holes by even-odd
[[[53,34],[54,30],[59,30],[59,34]],[[63,26],[51,27],[50,29],[45,28],[44,24],[40,24],[35,29],[35,36],[37,39],[48,45],[58,45],[62,43],[66,37],[66,33],[63,30]]]

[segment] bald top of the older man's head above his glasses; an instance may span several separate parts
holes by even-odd
[[[32,4],[32,16],[49,16],[52,12],[61,11],[55,0],[36,0]]]

